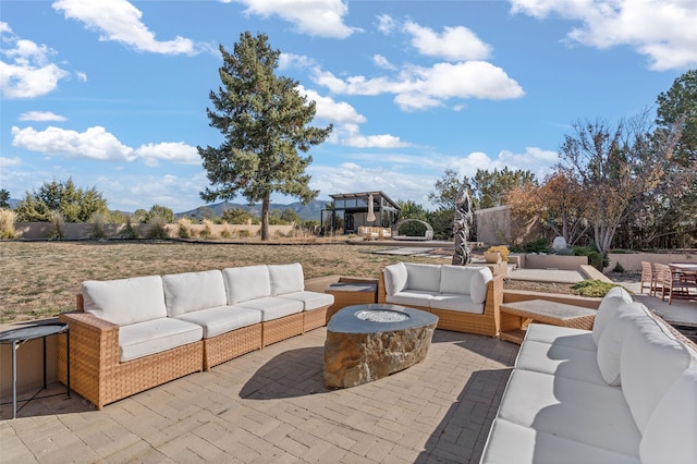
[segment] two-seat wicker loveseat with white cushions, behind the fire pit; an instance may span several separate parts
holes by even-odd
[[[514,318],[499,316],[503,277],[486,267],[398,262],[380,272],[378,303],[392,303],[438,316],[438,328],[494,337]],[[497,317],[506,318],[496,321]],[[510,319],[510,320],[509,320]]]

